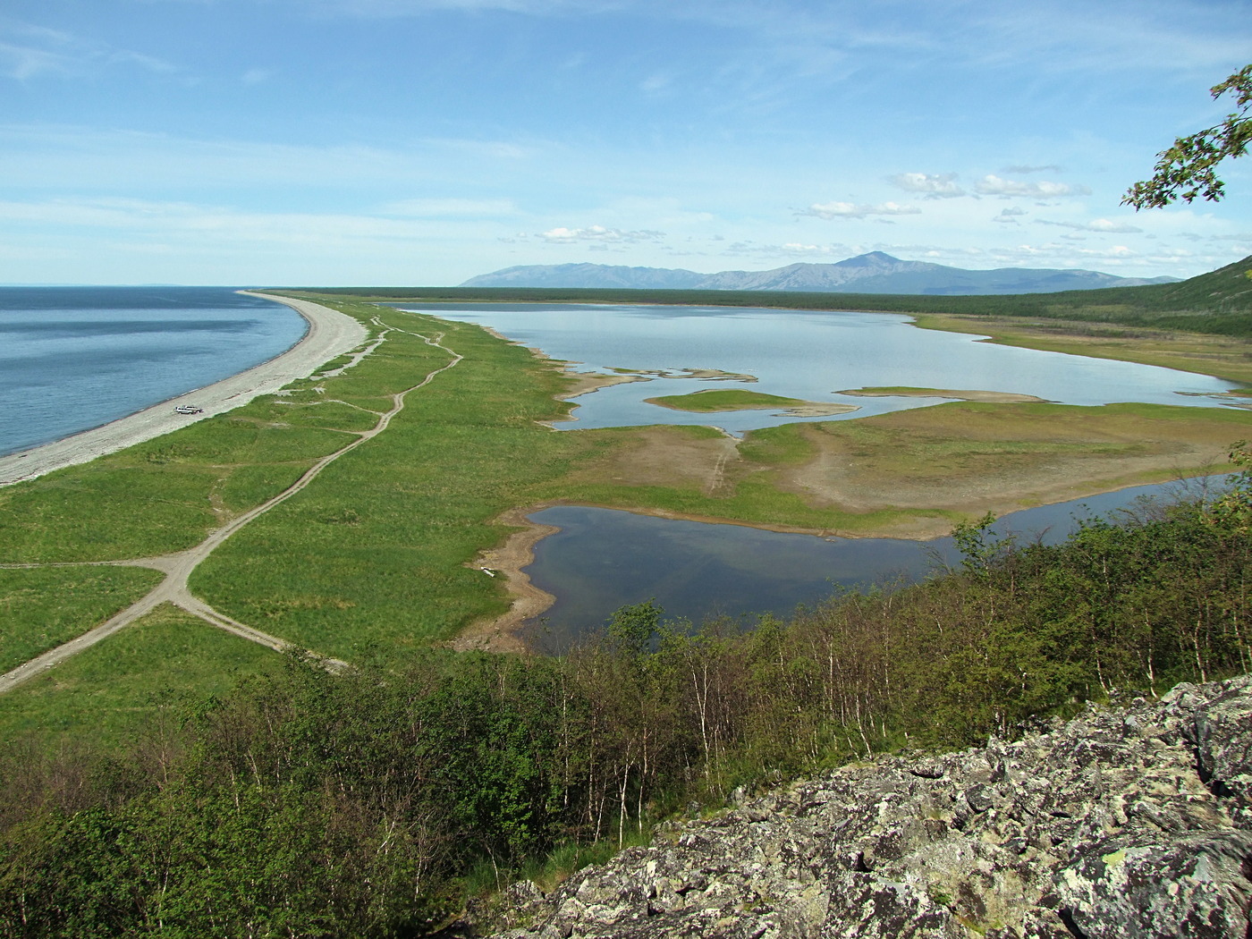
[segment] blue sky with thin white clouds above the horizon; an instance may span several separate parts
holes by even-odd
[[[444,285],[868,250],[1189,277],[1121,198],[1232,109],[1252,3],[5,0],[0,283]]]

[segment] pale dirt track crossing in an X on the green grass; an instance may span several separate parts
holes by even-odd
[[[356,449],[366,441],[372,439],[373,437],[377,437],[379,433],[386,431],[387,427],[391,424],[391,419],[404,409],[404,397],[409,392],[417,391],[418,388],[424,388],[427,384],[433,382],[437,376],[442,374],[443,372],[447,372],[449,368],[454,368],[458,363],[464,361],[464,356],[461,356],[459,353],[442,344],[443,341],[442,333],[437,333],[436,334],[437,338],[432,341],[429,337],[422,336],[421,333],[412,333],[407,329],[398,329],[397,332],[403,332],[408,333],[409,336],[416,336],[419,339],[422,339],[422,342],[424,342],[427,346],[432,346],[437,349],[443,349],[449,356],[452,356],[452,361],[448,362],[446,366],[441,366],[439,368],[428,373],[426,378],[423,378],[421,382],[412,386],[411,388],[406,388],[404,391],[396,392],[394,394],[392,394],[391,411],[382,414],[378,419],[378,423],[374,424],[372,429],[361,431],[357,439],[352,441],[346,447],[336,451],[334,453],[322,457],[287,490],[278,493],[268,502],[264,502],[260,506],[257,506],[255,508],[244,512],[242,516],[234,518],[222,528],[218,528],[215,532],[209,535],[208,538],[205,538],[195,547],[188,551],[180,551],[173,555],[164,555],[162,557],[155,557],[155,558],[138,558],[135,561],[105,562],[115,565],[131,565],[135,567],[153,567],[156,570],[165,571],[167,575],[165,580],[163,580],[146,596],[131,603],[129,607],[126,607],[118,615],[110,617],[106,622],[103,622],[101,625],[91,630],[88,630],[86,632],[70,640],[69,642],[65,642],[58,646],[56,649],[51,649],[44,652],[43,655],[39,655],[35,659],[31,659],[30,661],[19,665],[16,669],[13,669],[11,671],[0,675],[0,694],[4,694],[16,687],[18,685],[21,685],[23,682],[29,681],[36,675],[40,675],[48,671],[49,669],[55,667],[66,659],[78,655],[84,649],[94,646],[100,640],[108,639],[119,630],[129,626],[139,617],[151,612],[164,602],[170,602],[178,606],[179,608],[185,610],[187,612],[200,617],[202,620],[204,620],[204,622],[208,622],[212,626],[217,626],[218,629],[224,629],[228,632],[240,636],[242,639],[258,642],[259,645],[267,646],[269,649],[275,649],[279,651],[285,649],[293,649],[294,646],[292,646],[292,644],[288,644],[285,640],[282,640],[277,636],[270,636],[269,634],[262,632],[260,630],[254,630],[250,626],[237,622],[235,620],[232,620],[224,616],[223,613],[217,612],[208,603],[192,595],[192,592],[188,590],[187,586],[187,578],[192,573],[192,571],[195,570],[197,565],[200,563],[200,561],[208,557],[214,548],[222,545],[227,538],[229,538],[237,531],[243,528],[254,518],[264,515],[274,506],[285,502],[297,492],[304,490],[310,482],[313,482],[313,480],[318,477],[318,475],[326,467],[328,467],[336,459],[342,457],[344,453]],[[347,664],[342,662],[338,659],[329,659],[327,656],[321,656],[316,652],[313,655],[317,655],[318,659],[321,659],[321,661],[331,669],[347,667]]]

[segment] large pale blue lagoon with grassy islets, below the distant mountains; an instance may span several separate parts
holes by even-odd
[[[679,373],[714,369],[756,382],[652,378],[576,399],[560,428],[714,424],[735,434],[796,421],[831,421],[939,403],[939,398],[853,397],[865,387],[913,387],[1032,394],[1065,404],[1137,401],[1222,407],[1208,396],[1234,386],[1217,378],[1131,362],[1065,356],[919,329],[895,313],[635,307],[590,304],[404,304],[404,309],[478,323],[580,371]],[[798,418],[772,411],[689,413],[645,398],[741,388],[821,403],[848,414]]]

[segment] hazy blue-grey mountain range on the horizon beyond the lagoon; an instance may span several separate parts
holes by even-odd
[[[772,270],[700,274],[681,268],[612,264],[523,264],[481,274],[461,287],[573,287],[675,290],[808,290],[823,293],[1005,294],[1089,290],[1173,283],[1177,278],[1116,277],[1096,270],[995,268],[967,270],[924,260],[900,260],[883,252],[833,264],[788,264]]]

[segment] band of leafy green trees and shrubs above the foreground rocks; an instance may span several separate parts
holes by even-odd
[[[736,786],[1248,670],[1252,475],[1055,546],[988,521],[957,531],[958,570],[751,630],[644,600],[561,659],[290,656],[121,750],[10,745],[0,935],[422,935],[472,871]]]

